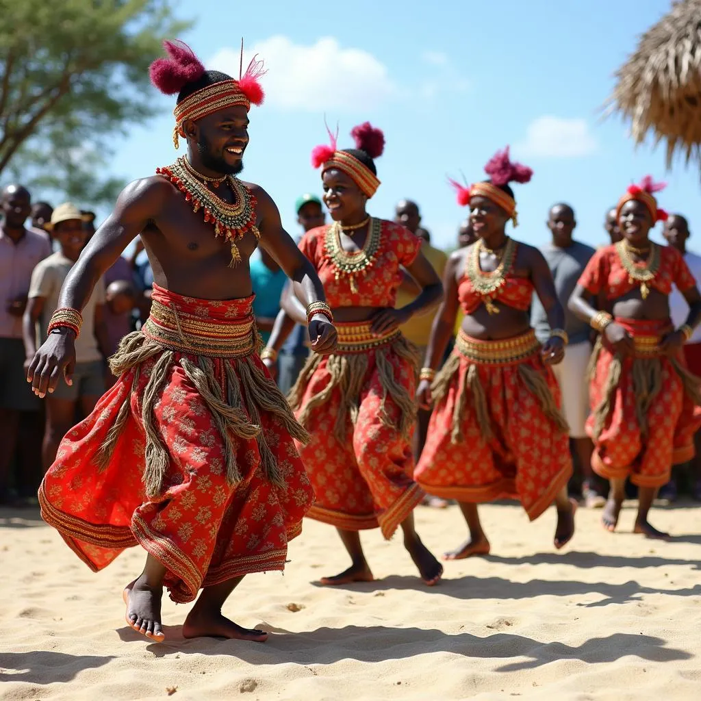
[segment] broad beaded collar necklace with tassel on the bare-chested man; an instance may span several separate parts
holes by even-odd
[[[227,175],[226,182],[236,195],[236,203],[232,205],[225,202],[198,179],[196,170],[186,161],[185,156],[178,158],[168,168],[156,168],[156,173],[167,177],[184,194],[192,205],[193,212],[202,210],[205,222],[214,227],[215,236],[222,236],[231,244],[229,267],[236,267],[241,261],[236,241],[249,231],[257,239],[261,236],[256,226],[256,198],[238,178]]]

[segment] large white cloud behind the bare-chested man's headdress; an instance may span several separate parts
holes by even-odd
[[[341,48],[332,36],[311,46],[271,36],[246,51],[244,69],[255,53],[269,69],[263,79],[266,104],[280,109],[365,113],[398,93],[385,64],[365,50]],[[207,66],[238,76],[238,49],[219,50]]]

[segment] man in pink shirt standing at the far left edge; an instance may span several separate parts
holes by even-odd
[[[51,254],[46,236],[25,228],[32,210],[31,198],[21,185],[8,185],[0,194],[3,222],[0,224],[0,503],[11,501],[9,471],[18,447],[22,412],[27,426],[39,423],[39,400],[27,387],[25,346],[22,342],[22,314],[27,304],[29,281],[39,261]],[[41,442],[41,439],[39,439]],[[20,441],[22,482],[39,484],[40,456],[36,438]],[[25,450],[26,449],[26,450]],[[34,449],[35,455],[28,451]]]

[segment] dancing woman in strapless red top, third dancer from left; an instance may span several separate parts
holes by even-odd
[[[566,333],[550,268],[536,248],[507,236],[516,224],[509,182],[529,182],[532,171],[509,161],[508,148],[484,168],[490,179],[458,189],[470,205],[476,243],[456,251],[444,275],[445,298],[433,323],[421,369],[418,400],[435,402],[414,479],[428,494],[456,499],[470,538],[446,559],[489,552],[477,504],[517,498],[531,520],[555,501],[555,547],[574,532],[572,473],[559,388],[548,365],[562,361]],[[552,332],[541,346],[528,309],[533,290],[543,302]],[[465,318],[451,357],[436,376],[454,328],[458,306]],[[431,381],[433,381],[433,385]]]

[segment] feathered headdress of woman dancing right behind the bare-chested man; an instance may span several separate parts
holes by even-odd
[[[385,135],[369,122],[362,123],[351,131],[355,149],[336,149],[338,130],[333,135],[329,128],[330,144],[317,146],[311,152],[311,164],[321,168],[321,174],[331,168],[338,168],[349,177],[368,197],[372,197],[380,186],[374,158],[379,158],[385,149]]]

